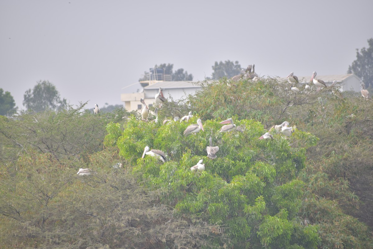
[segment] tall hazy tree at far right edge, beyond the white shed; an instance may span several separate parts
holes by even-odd
[[[365,83],[366,87],[373,84],[373,38],[368,39],[369,48],[363,47],[360,52],[356,48],[356,60],[348,66],[347,73],[354,73]]]

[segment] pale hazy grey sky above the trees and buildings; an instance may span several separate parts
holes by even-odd
[[[193,80],[214,62],[261,76],[345,74],[373,38],[373,1],[0,0],[0,88],[19,108],[48,80],[70,104],[123,104],[155,64]]]

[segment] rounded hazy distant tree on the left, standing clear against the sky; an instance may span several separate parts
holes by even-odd
[[[34,89],[28,89],[23,95],[23,105],[27,110],[35,112],[47,109],[59,110],[67,107],[66,99],[61,100],[60,94],[49,81],[38,81]]]

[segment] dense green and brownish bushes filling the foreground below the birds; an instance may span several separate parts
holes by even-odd
[[[84,105],[2,117],[0,247],[373,248],[371,100],[277,79],[200,83],[159,110],[160,121],[193,111],[188,123]],[[219,133],[230,117],[238,130]],[[205,132],[185,137],[197,118]],[[285,120],[290,138],[258,140]],[[167,161],[142,159],[145,146]]]

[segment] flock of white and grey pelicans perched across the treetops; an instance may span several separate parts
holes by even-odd
[[[323,80],[316,79],[316,75],[317,73],[316,71],[314,71],[311,76],[311,82],[313,82],[313,84],[318,87],[317,91],[320,91],[321,88],[326,88],[327,86]],[[295,76],[293,72],[291,72],[286,78],[292,84],[299,83],[298,77]],[[240,79],[253,79],[253,80],[258,79],[258,75],[255,73],[255,64],[249,65],[246,70],[241,69],[241,74],[232,77],[232,81],[238,81]],[[334,86],[335,84],[336,84],[336,81],[333,81],[332,86]],[[361,87],[361,95],[364,97],[364,99],[369,99],[370,98],[369,92],[368,90],[365,89],[365,85],[363,82],[361,82],[360,87]],[[291,90],[295,93],[301,92],[299,88],[293,85],[291,85]],[[311,87],[310,85],[308,85],[308,83],[305,84],[305,90],[306,91],[311,90]],[[155,95],[155,102],[159,104],[159,108],[161,108],[162,104],[165,101],[167,101],[167,99],[163,96],[163,89],[159,88],[159,92]],[[141,109],[142,120],[148,121],[149,108],[145,104],[145,100],[143,98],[141,98],[140,102],[143,105]],[[94,114],[100,113],[100,109],[98,108],[97,104],[95,104],[93,111],[94,111]],[[156,114],[156,119],[154,120],[154,122],[158,122],[158,108],[154,110],[154,113]],[[193,117],[192,112],[189,111],[188,115],[185,115],[181,119],[179,117],[174,117],[173,121],[177,122],[180,120],[180,122],[188,122],[192,117]],[[171,122],[171,121],[172,120],[170,119],[166,119],[163,121],[163,124],[167,124],[168,122]],[[220,128],[219,132],[233,132],[237,129],[236,124],[233,123],[233,119],[231,118],[220,122],[220,124],[225,124],[225,125],[223,125]],[[282,132],[283,135],[289,137],[294,132],[294,128],[295,126],[291,127],[290,123],[285,121],[282,124],[272,126],[268,132],[264,133],[258,139],[273,139],[273,135],[270,133],[272,129],[275,129],[278,132]],[[190,134],[196,134],[200,132],[201,130],[204,131],[202,121],[201,119],[197,119],[196,124],[191,124],[188,127],[186,127],[186,129],[184,130],[184,136],[188,136]],[[206,147],[207,157],[210,159],[215,159],[217,157],[216,153],[218,151],[219,151],[219,146],[213,146],[212,138],[210,137],[210,146]],[[163,163],[166,161],[166,154],[163,151],[159,149],[150,149],[149,146],[146,146],[144,148],[144,152],[142,153],[141,158],[144,158],[145,155],[156,157],[158,160],[162,161]],[[113,168],[121,168],[121,167],[122,167],[121,163],[117,163],[113,166]],[[205,165],[203,164],[203,159],[198,161],[198,163],[192,166],[190,169],[192,171],[204,171]],[[83,175],[90,175],[91,173],[93,172],[89,168],[80,168],[77,174],[80,176],[83,176]]]

